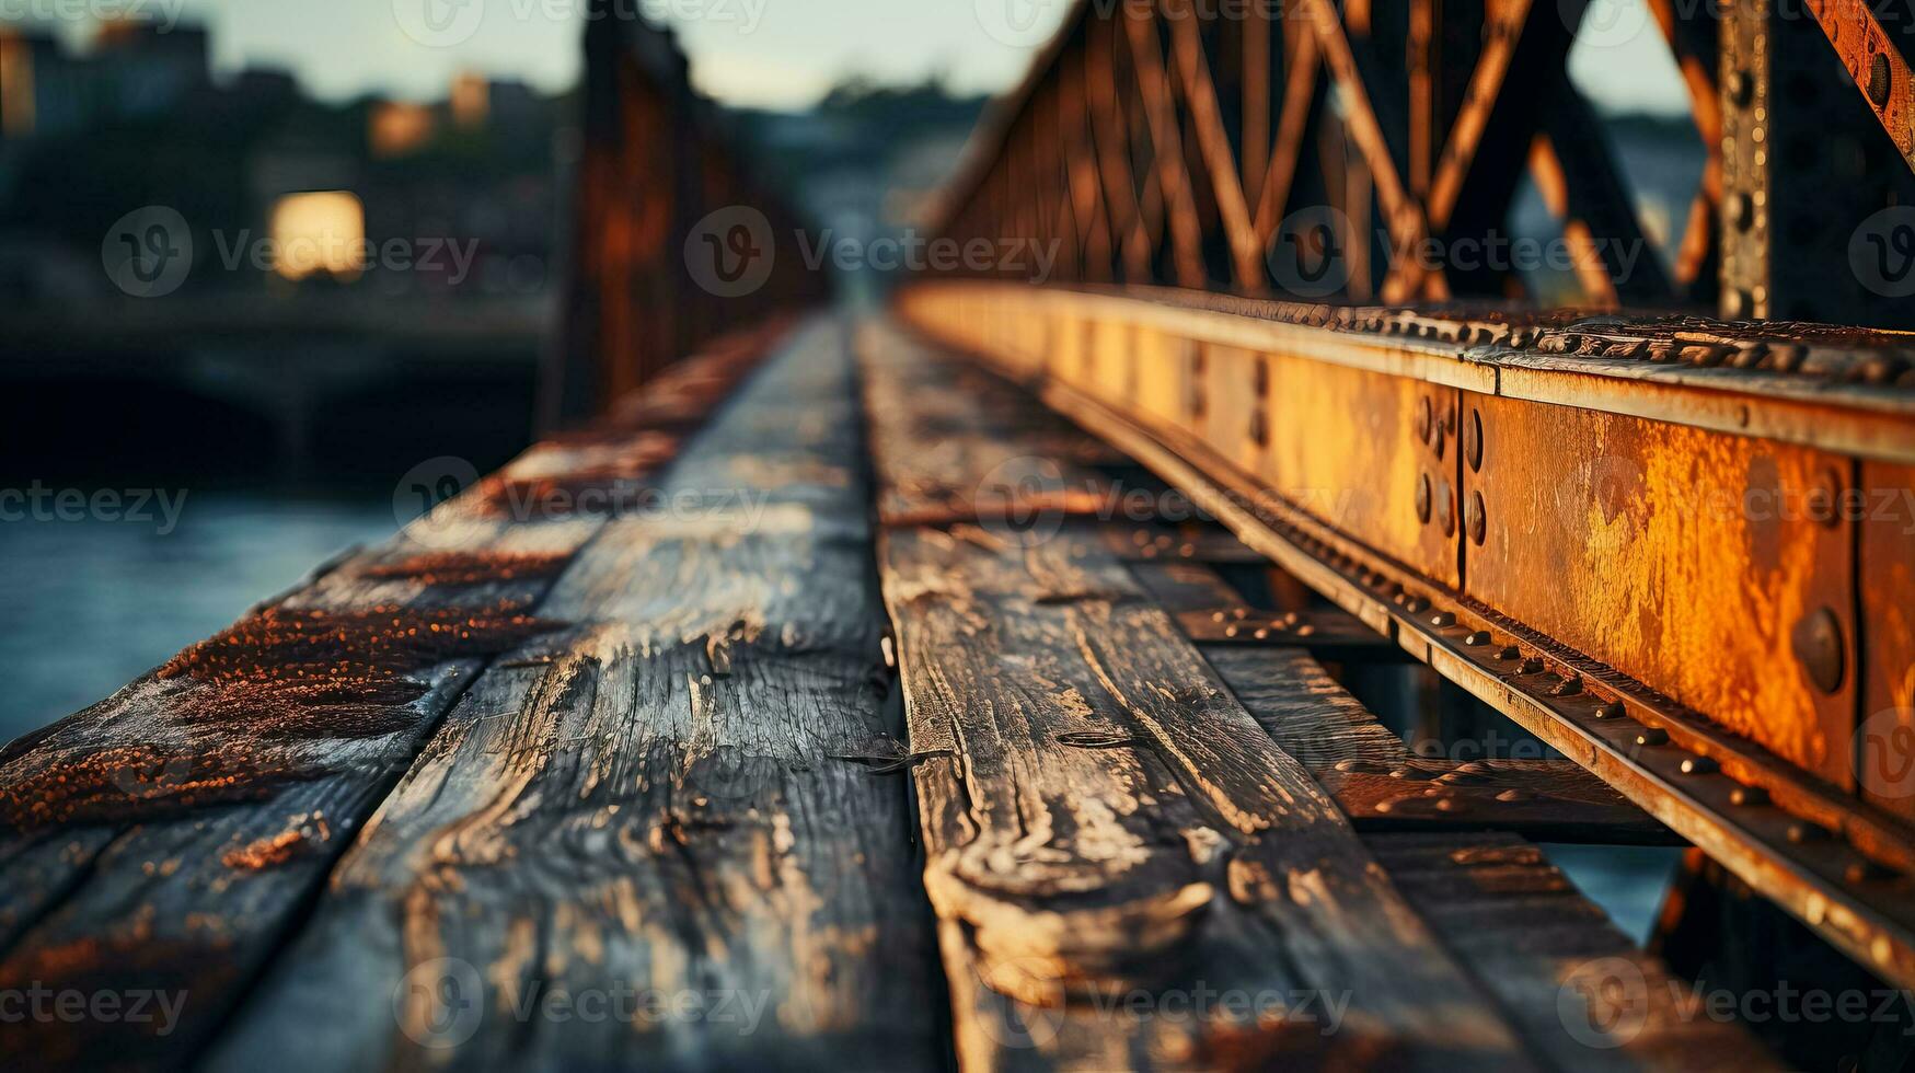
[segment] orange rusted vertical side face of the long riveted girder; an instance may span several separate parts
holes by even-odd
[[[1905,536],[1869,531],[1858,630],[1858,521],[1814,514],[1915,468],[1907,335],[994,284],[902,308],[1833,786],[1896,699],[1865,707],[1858,646],[1900,628]],[[1884,651],[1871,682],[1905,671]]]

